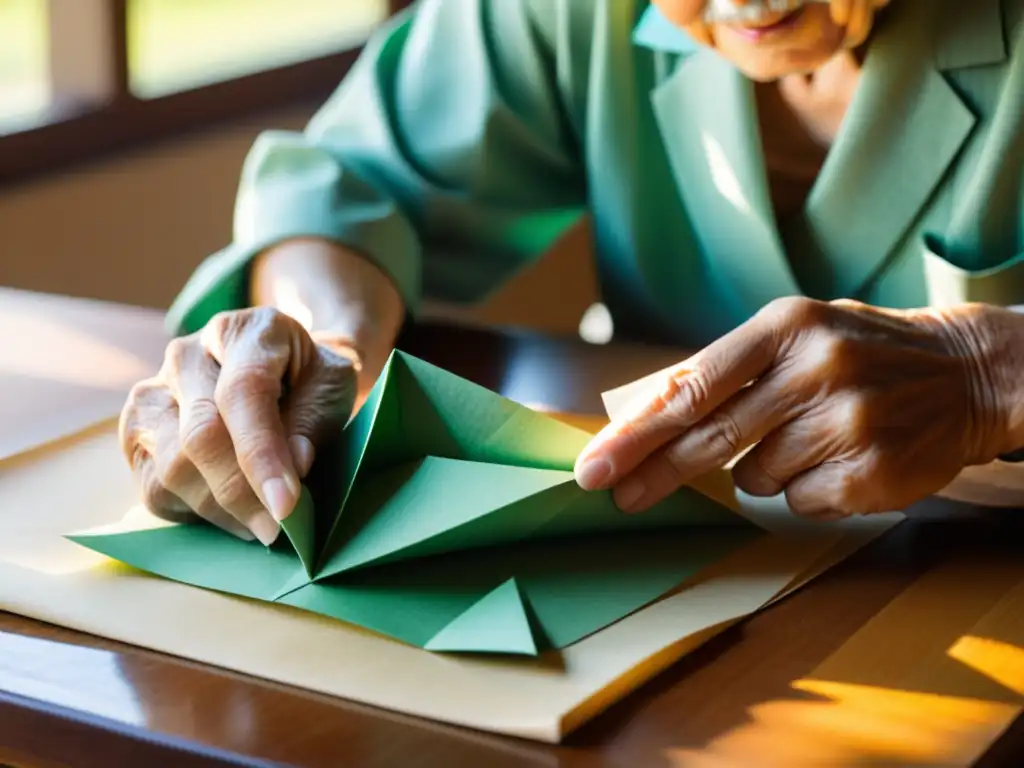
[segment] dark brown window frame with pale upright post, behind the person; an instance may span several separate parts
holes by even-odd
[[[388,13],[414,1],[389,0]],[[138,98],[128,79],[128,2],[48,0],[53,98],[38,123],[0,135],[0,188],[217,124],[319,103],[362,50]]]

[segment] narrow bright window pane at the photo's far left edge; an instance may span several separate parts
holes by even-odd
[[[0,133],[38,122],[50,102],[45,0],[0,0]]]

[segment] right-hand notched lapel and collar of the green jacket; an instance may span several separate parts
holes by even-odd
[[[977,123],[942,70],[1006,55],[993,45],[998,2],[892,4],[804,215],[785,232],[808,293],[860,294],[918,219]]]

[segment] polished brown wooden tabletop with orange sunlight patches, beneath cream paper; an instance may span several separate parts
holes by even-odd
[[[32,297],[19,299],[25,306]],[[60,302],[39,299],[37,313],[59,311]],[[124,317],[137,311],[126,308]],[[162,332],[150,322],[139,356],[159,359]],[[123,332],[138,344],[143,326],[106,324],[98,341],[117,347]],[[595,415],[601,391],[681,354],[453,326],[414,329],[400,346],[514,399]],[[0,370],[0,401],[12,392]],[[18,413],[24,421],[30,409],[51,406],[36,398]],[[1024,515],[937,503],[909,514],[558,748],[401,718],[0,613],[0,764],[1024,764]]]

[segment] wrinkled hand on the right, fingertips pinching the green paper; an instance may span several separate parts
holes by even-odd
[[[748,494],[818,518],[902,509],[1015,447],[1020,323],[985,305],[776,301],[597,435],[578,481],[639,512],[754,445],[733,468]]]

